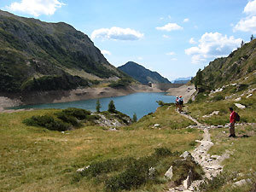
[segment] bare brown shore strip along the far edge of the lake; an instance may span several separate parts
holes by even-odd
[[[22,96],[22,101],[13,96],[0,96],[0,113],[12,112],[14,110],[5,110],[20,105],[34,105],[40,103],[56,103],[56,102],[74,102],[86,99],[95,99],[113,96],[127,96],[137,92],[164,92],[157,88],[152,88],[143,84],[133,84],[125,89],[113,89],[110,87],[96,87],[76,90],[55,90],[44,92],[30,92]],[[188,102],[190,96],[195,92],[194,86],[183,85],[178,88],[167,90],[168,96],[183,96],[184,101]],[[23,110],[23,109],[20,109]]]

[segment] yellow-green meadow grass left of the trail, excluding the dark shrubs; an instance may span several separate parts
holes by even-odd
[[[200,131],[177,126],[180,121],[185,121],[182,125],[191,122],[179,119],[177,113],[166,108],[158,109],[149,124],[146,118],[119,131],[84,126],[63,134],[22,124],[33,115],[57,112],[45,109],[0,113],[0,191],[103,191],[103,183],[86,177],[73,183],[76,170],[109,159],[148,156],[154,148],[183,152],[194,148],[193,142],[201,137]],[[173,123],[168,119],[172,117]],[[151,129],[151,124],[160,120],[167,122],[160,124],[162,129]],[[164,187],[163,183],[148,183],[141,189],[161,191]]]

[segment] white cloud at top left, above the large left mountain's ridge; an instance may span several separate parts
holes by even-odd
[[[6,9],[20,11],[38,17],[39,15],[54,15],[55,10],[61,8],[64,3],[58,0],[21,0],[11,3]]]

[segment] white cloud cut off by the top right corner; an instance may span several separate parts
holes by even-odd
[[[236,26],[233,27],[233,31],[256,33],[256,0],[249,1],[243,12],[247,14],[247,17],[239,20]]]

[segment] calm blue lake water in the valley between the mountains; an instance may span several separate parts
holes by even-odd
[[[137,114],[137,119],[142,118],[148,113],[152,113],[156,108],[159,107],[156,101],[163,102],[175,102],[175,96],[166,96],[166,93],[134,93],[128,96],[115,96],[100,98],[101,111],[108,110],[108,103],[113,100],[115,108],[130,117],[133,113]],[[38,104],[38,105],[26,105],[19,106],[13,109],[20,108],[84,108],[92,112],[96,111],[96,101],[97,99],[83,100],[77,102],[58,102],[49,104]]]

